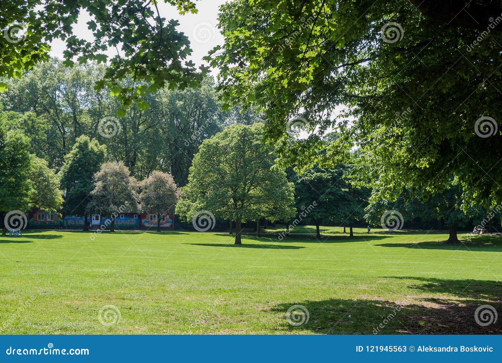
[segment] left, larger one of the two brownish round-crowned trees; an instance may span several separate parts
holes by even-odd
[[[138,181],[122,162],[104,163],[94,174],[94,180],[86,211],[111,216],[110,231],[113,232],[117,214],[138,209]]]

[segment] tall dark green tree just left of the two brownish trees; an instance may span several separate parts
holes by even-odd
[[[86,206],[91,201],[94,175],[103,164],[106,148],[97,140],[83,135],[77,138],[72,150],[65,156],[59,172],[61,187],[66,191],[63,211],[84,216],[84,230],[88,229]]]

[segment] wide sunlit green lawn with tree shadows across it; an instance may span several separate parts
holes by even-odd
[[[234,247],[228,233],[90,235],[0,237],[3,334],[502,333],[500,318],[474,320],[479,305],[502,312],[502,236],[451,246],[446,234],[380,229],[245,235]],[[106,305],[120,320],[100,323]],[[288,323],[293,305],[308,322]]]

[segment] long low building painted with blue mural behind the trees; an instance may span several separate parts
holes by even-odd
[[[90,229],[109,229],[111,216],[92,214],[87,217]],[[120,213],[115,217],[115,229],[174,229],[174,215],[161,215],[157,220],[154,213]],[[65,215],[59,211],[33,209],[28,215],[29,228],[41,229],[83,229],[85,217],[79,214]],[[103,227],[101,227],[103,226]]]

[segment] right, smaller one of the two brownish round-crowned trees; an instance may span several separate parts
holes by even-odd
[[[143,180],[140,189],[140,209],[144,213],[157,214],[157,231],[160,232],[160,217],[174,210],[180,198],[180,189],[171,174],[161,171],[154,171]]]

